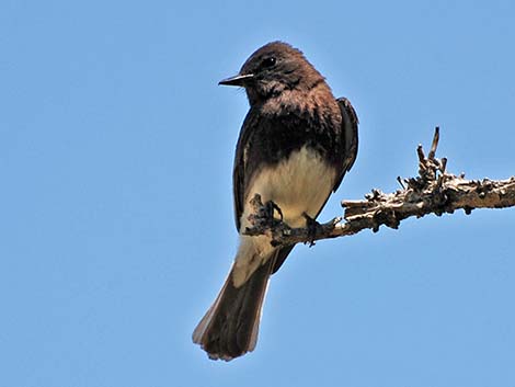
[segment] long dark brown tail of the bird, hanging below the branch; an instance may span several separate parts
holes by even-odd
[[[233,285],[232,266],[220,294],[193,332],[199,344],[214,360],[230,361],[254,350],[258,341],[261,309],[275,264],[275,255],[239,287]]]

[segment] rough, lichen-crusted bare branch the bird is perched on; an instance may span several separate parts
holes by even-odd
[[[261,202],[260,195],[251,201],[254,214],[249,217],[252,227],[247,228],[250,236],[266,235],[272,244],[312,243],[316,240],[344,237],[364,229],[379,230],[386,225],[397,229],[401,220],[427,214],[440,216],[464,209],[468,215],[474,208],[504,208],[515,206],[515,177],[507,180],[467,180],[446,171],[447,159],[437,159],[439,129],[436,127],[433,144],[427,157],[419,145],[419,175],[402,180],[402,186],[393,193],[373,190],[363,201],[343,201],[344,220],[336,217],[316,227],[291,228],[282,220],[273,218],[275,204]],[[271,215],[272,214],[272,215]]]

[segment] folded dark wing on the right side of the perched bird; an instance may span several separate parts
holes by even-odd
[[[340,175],[334,183],[333,192],[337,190],[340,183],[345,175],[345,172],[351,170],[357,156],[357,114],[354,107],[346,98],[339,98],[336,100],[342,113],[342,133],[340,143],[340,151],[343,159]]]

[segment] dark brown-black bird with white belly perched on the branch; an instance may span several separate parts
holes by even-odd
[[[193,341],[210,358],[230,361],[255,348],[268,277],[294,248],[243,235],[249,202],[255,194],[273,202],[291,227],[314,219],[354,163],[357,116],[346,99],[334,99],[300,50],[282,42],[258,49],[238,76],[219,84],[243,87],[250,103],[232,174],[240,246]]]

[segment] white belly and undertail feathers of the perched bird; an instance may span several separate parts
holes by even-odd
[[[273,201],[283,213],[284,221],[291,227],[306,225],[304,213],[314,217],[334,186],[334,169],[309,148],[294,151],[289,158],[256,173],[250,183],[241,216],[240,247],[233,266],[233,284],[242,285],[250,275],[271,257],[274,248],[265,236],[241,235],[249,227],[252,210],[249,201],[258,193],[263,203]]]

